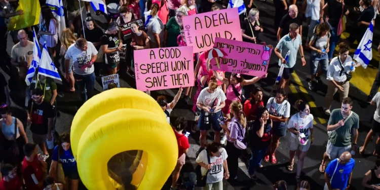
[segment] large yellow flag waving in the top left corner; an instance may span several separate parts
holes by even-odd
[[[20,0],[16,11],[18,10],[23,10],[24,14],[12,17],[9,21],[8,30],[18,30],[40,23],[40,1]]]

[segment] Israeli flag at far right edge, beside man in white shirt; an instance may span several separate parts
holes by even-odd
[[[372,59],[372,37],[373,24],[371,21],[354,54],[354,59],[364,68],[367,68],[369,61]]]

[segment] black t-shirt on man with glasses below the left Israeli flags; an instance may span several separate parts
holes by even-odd
[[[29,100],[27,110],[30,110],[33,100]],[[41,104],[33,103],[31,112],[30,131],[35,134],[48,134],[48,119],[53,118],[53,107],[50,103],[43,101]]]

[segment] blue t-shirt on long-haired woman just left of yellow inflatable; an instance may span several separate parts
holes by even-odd
[[[58,145],[54,147],[52,160],[58,161]],[[62,163],[62,168],[65,175],[71,172],[77,172],[77,161],[75,161],[70,149],[63,150],[63,155],[59,155],[59,160]]]

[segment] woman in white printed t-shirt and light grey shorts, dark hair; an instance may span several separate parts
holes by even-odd
[[[295,153],[299,150],[297,174],[295,175],[295,179],[299,181],[303,168],[303,160],[310,145],[313,143],[314,117],[311,115],[310,106],[306,102],[297,100],[295,107],[299,112],[293,115],[288,122],[288,131],[291,133],[291,137],[289,138],[290,164],[287,166],[287,169],[293,171]]]

